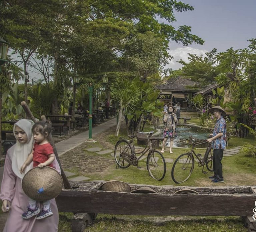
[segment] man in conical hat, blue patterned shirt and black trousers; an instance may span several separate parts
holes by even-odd
[[[226,116],[226,112],[220,107],[215,106],[209,109],[209,112],[217,117],[217,122],[214,126],[212,137],[207,139],[211,143],[213,152],[213,172],[214,175],[209,178],[212,179],[214,183],[223,183],[224,178],[222,175],[222,157],[223,150],[226,148],[226,137],[227,137],[227,127],[226,120],[223,118]]]

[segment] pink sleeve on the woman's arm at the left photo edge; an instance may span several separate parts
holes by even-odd
[[[16,175],[12,170],[10,156],[6,155],[4,164],[4,174],[1,185],[0,199],[12,201],[15,194]]]

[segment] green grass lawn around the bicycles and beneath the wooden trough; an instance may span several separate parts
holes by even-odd
[[[198,118],[191,117],[193,123],[198,123]],[[192,120],[191,119],[191,120]],[[144,131],[149,131],[151,128],[149,125],[144,129]],[[120,136],[127,137],[126,130],[120,131]],[[97,138],[96,138],[97,140]],[[111,145],[112,149],[114,144],[118,140],[114,133],[108,131],[105,134],[104,140]],[[253,136],[248,136],[247,138],[230,138],[229,147],[236,147],[244,145],[245,143],[254,143],[255,140]],[[135,144],[136,145],[136,144]],[[100,142],[95,144],[90,144],[91,146],[104,147]],[[158,149],[161,150],[160,148]],[[171,158],[175,160],[180,154],[185,153],[189,148],[173,148],[173,153],[168,152],[169,148],[165,148],[164,157]],[[87,151],[86,151],[87,152]],[[204,149],[196,149],[198,153],[204,153]],[[101,155],[106,159],[114,159],[110,154]],[[116,163],[111,164],[106,171],[97,173],[86,173],[86,176],[90,177],[90,180],[121,180],[128,183],[136,184],[149,184],[149,185],[173,185],[173,186],[234,186],[234,185],[248,185],[255,186],[255,166],[256,159],[246,155],[243,151],[239,154],[223,157],[223,175],[225,182],[214,184],[208,178],[212,175],[211,172],[207,174],[202,173],[202,167],[198,167],[195,163],[195,167],[190,178],[182,184],[176,184],[171,178],[171,168],[173,163],[167,163],[167,170],[165,178],[162,181],[156,181],[149,176],[146,169],[146,159],[139,160],[139,166],[137,168],[130,166],[126,169],[116,168]],[[204,169],[206,170],[206,168]],[[71,169],[70,171],[81,174],[78,170]],[[253,208],[253,206],[252,206]],[[60,225],[59,231],[68,232],[70,229],[70,222],[73,214],[70,213],[60,213]],[[229,231],[229,232],[246,232],[247,229],[244,228],[242,220],[240,217],[179,217],[179,216],[129,216],[129,215],[107,215],[99,214],[95,220],[95,223],[85,229],[86,232],[98,232],[98,231],[128,231],[128,232],[140,232],[140,231],[162,231],[162,232],[179,232],[179,231],[209,231],[209,232],[219,232],[219,231]]]

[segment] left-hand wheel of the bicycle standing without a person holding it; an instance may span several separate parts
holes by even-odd
[[[119,140],[115,145],[114,157],[119,167],[127,168],[131,164],[121,157],[123,152],[131,155],[133,153],[132,147],[126,140]]]

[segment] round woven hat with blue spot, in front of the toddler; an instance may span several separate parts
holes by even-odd
[[[30,198],[36,201],[47,201],[60,194],[63,180],[52,167],[34,167],[23,177],[22,188]]]

